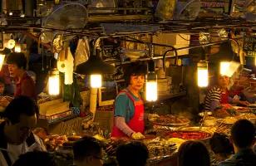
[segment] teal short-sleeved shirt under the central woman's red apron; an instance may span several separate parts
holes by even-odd
[[[133,95],[132,93],[130,93],[130,95],[133,97],[134,100],[140,100],[140,98],[135,97],[135,95]],[[124,117],[126,123],[128,123],[132,119],[134,113],[134,104],[132,100],[130,100],[130,98],[126,95],[126,92],[121,92],[119,95],[117,95],[115,100],[115,116]]]

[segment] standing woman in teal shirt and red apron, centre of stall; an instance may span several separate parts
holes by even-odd
[[[130,137],[144,139],[144,104],[140,90],[145,83],[146,66],[131,63],[125,71],[128,85],[121,90],[115,101],[114,127],[112,137]]]

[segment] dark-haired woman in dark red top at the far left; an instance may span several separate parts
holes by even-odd
[[[14,97],[26,95],[33,100],[37,100],[36,86],[30,76],[27,75],[27,58],[23,53],[12,52],[7,56],[7,64],[12,76],[16,81]]]

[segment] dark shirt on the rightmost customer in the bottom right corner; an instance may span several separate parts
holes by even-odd
[[[234,154],[230,159],[221,162],[219,166],[255,166],[256,154],[253,149],[243,149]]]

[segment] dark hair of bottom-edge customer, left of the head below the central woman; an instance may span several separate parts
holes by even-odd
[[[93,137],[84,136],[74,143],[73,154],[77,161],[81,161],[88,156],[101,154],[101,144]]]

